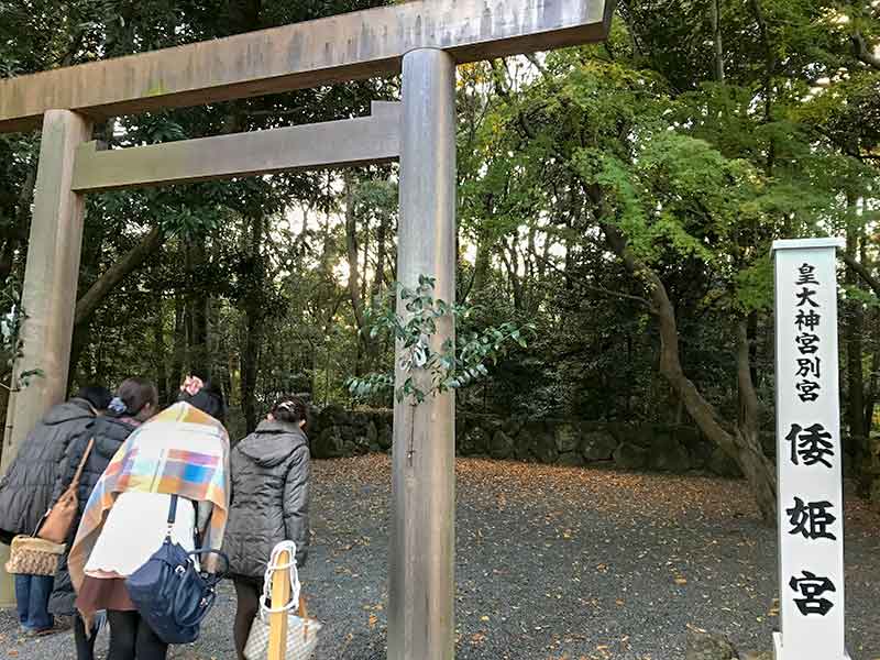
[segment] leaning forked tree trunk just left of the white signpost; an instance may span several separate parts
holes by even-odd
[[[737,324],[740,419],[733,430],[728,430],[714,406],[703,397],[682,370],[675,310],[666,286],[652,268],[636,258],[619,229],[606,223],[602,224],[602,229],[608,245],[622,260],[627,272],[640,282],[645,282],[648,288],[651,311],[660,330],[660,373],[684,402],[688,414],[703,435],[737,462],[751,485],[761,517],[767,524],[773,524],[777,510],[776,471],[772,463],[763,455],[759,439],[758,399],[749,369],[746,321],[741,320]]]

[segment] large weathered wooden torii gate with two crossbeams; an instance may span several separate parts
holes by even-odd
[[[40,369],[10,404],[8,464],[65,396],[84,195],[399,157],[398,279],[454,298],[455,65],[597,42],[615,0],[417,0],[0,80],[0,132],[42,125],[22,307]],[[92,122],[403,73],[370,118],[100,151]],[[454,338],[452,320],[438,345]],[[398,377],[399,377],[398,373]],[[388,658],[454,657],[454,398],[395,405]],[[409,455],[408,455],[409,454]]]

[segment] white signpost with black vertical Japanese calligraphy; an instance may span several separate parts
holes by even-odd
[[[781,630],[777,660],[844,660],[835,239],[773,243]]]

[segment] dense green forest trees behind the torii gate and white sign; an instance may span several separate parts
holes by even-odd
[[[0,76],[380,3],[0,2]],[[770,244],[839,235],[843,422],[861,447],[880,387],[878,44],[878,0],[627,0],[605,44],[459,67],[458,331],[535,328],[459,405],[695,425],[769,515],[752,450],[773,413]],[[375,79],[112,118],[96,138],[304,124],[398,97]],[[6,314],[21,311],[37,152],[36,133],[0,136]],[[360,405],[345,383],[393,361],[362,330],[395,287],[396,223],[393,165],[91,195],[70,385],[145,375],[168,400],[210,374],[239,435],[283,392]],[[11,314],[8,358],[14,329]]]

